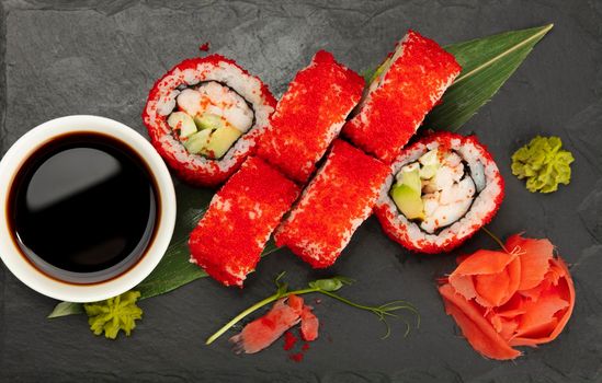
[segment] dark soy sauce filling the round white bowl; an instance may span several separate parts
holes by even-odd
[[[132,268],[158,225],[146,163],[115,138],[68,134],[37,149],[10,188],[8,219],[22,254],[44,274],[95,283]]]

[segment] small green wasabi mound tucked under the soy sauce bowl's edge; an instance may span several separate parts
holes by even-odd
[[[143,310],[136,305],[139,291],[126,291],[121,295],[104,301],[84,303],[88,324],[94,335],[115,339],[120,330],[129,336],[136,327],[136,321],[143,318]]]

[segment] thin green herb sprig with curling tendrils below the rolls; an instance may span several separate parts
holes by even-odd
[[[217,338],[219,338],[224,333],[226,333],[228,329],[234,327],[237,323],[242,321],[248,315],[252,314],[253,312],[258,311],[259,309],[277,301],[279,299],[286,298],[289,295],[303,295],[303,294],[310,294],[310,293],[320,293],[330,298],[333,298],[338,300],[339,302],[342,302],[344,304],[348,304],[352,307],[368,311],[376,315],[380,322],[385,324],[387,327],[387,330],[385,335],[382,337],[383,339],[387,338],[390,335],[390,326],[387,322],[387,318],[397,317],[404,321],[406,324],[406,333],[404,336],[407,336],[410,333],[411,325],[408,321],[406,321],[402,316],[399,316],[396,312],[400,310],[409,311],[412,314],[416,315],[416,327],[420,327],[420,314],[418,313],[418,310],[416,307],[404,300],[397,300],[387,302],[385,304],[378,305],[378,306],[370,306],[364,304],[359,304],[355,302],[352,302],[348,300],[347,298],[343,298],[336,293],[336,291],[340,290],[342,287],[351,285],[354,282],[353,279],[347,278],[347,277],[332,277],[328,279],[317,279],[314,281],[310,281],[307,285],[307,288],[299,289],[299,290],[288,290],[288,283],[283,281],[285,271],[281,272],[276,279],[274,280],[274,285],[276,286],[276,292],[255,304],[251,305],[250,307],[243,310],[240,312],[237,316],[231,318],[228,323],[226,323],[222,328],[219,328],[215,334],[209,336],[207,340],[205,341],[205,345],[211,345],[214,343]]]

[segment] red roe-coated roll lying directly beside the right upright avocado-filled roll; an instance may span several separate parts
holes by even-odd
[[[332,265],[371,214],[389,166],[336,140],[326,163],[279,227],[275,241],[314,268]]]

